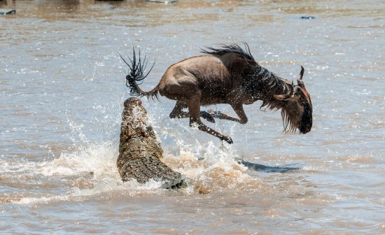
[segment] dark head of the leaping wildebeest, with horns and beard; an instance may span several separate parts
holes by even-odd
[[[297,79],[297,85],[291,84],[290,93],[274,95],[275,99],[282,102],[281,115],[286,132],[299,129],[300,133],[306,134],[313,124],[313,106],[302,81],[303,75],[304,68],[301,66],[300,78]]]

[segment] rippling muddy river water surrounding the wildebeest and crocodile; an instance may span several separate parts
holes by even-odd
[[[384,1],[0,1],[0,231],[10,234],[385,234]],[[314,16],[314,19],[301,19]],[[127,66],[146,52],[154,87],[204,46],[248,43],[295,80],[314,125],[279,111],[218,120],[221,143],[143,99],[186,189],[123,183],[116,169]],[[142,54],[143,55],[143,54]],[[232,114],[229,106],[209,106]],[[300,167],[250,171],[236,159]]]

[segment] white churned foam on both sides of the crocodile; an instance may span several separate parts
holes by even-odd
[[[50,201],[71,200],[76,197],[90,197],[92,195],[122,191],[128,194],[141,192],[158,192],[162,182],[150,180],[140,184],[137,180],[123,183],[116,167],[118,157],[118,140],[90,143],[81,132],[81,126],[71,125],[73,131],[80,133],[82,141],[78,142],[77,150],[62,152],[59,157],[45,162],[23,162],[22,167],[17,168],[12,164],[4,164],[2,168],[9,171],[33,173],[42,176],[73,176],[78,177],[79,182],[74,184],[67,192],[61,195],[42,195],[42,197],[25,197],[15,204],[40,204]],[[189,127],[186,129],[190,130]],[[175,148],[176,145],[176,148]],[[205,189],[211,187],[236,187],[238,183],[250,179],[246,173],[246,167],[235,161],[239,156],[231,146],[218,141],[186,144],[184,141],[174,141],[172,148],[163,146],[165,150],[164,161],[172,169],[179,171],[190,183],[185,190],[187,193],[196,193],[196,185],[199,183]],[[167,152],[172,149],[174,152]],[[92,172],[92,174],[90,174]],[[86,174],[84,174],[86,173]],[[87,176],[86,178],[83,178]],[[225,183],[223,182],[225,181]],[[203,183],[202,183],[203,182]],[[90,183],[88,185],[88,183]],[[218,186],[217,186],[218,185]],[[210,191],[207,190],[207,191]],[[160,191],[162,192],[162,190]]]

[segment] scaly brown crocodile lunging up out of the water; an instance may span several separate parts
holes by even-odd
[[[163,150],[153,127],[148,124],[146,109],[137,98],[125,101],[120,127],[119,156],[116,162],[122,180],[136,179],[146,183],[162,181],[162,187],[177,188],[184,185],[181,173],[173,171],[160,159]]]

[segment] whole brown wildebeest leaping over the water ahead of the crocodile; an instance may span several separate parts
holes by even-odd
[[[130,94],[146,97],[157,97],[158,94],[176,100],[170,118],[190,118],[190,126],[197,126],[201,131],[214,135],[221,140],[232,143],[225,136],[202,123],[201,117],[209,122],[214,118],[245,124],[244,104],[262,101],[262,108],[281,109],[283,131],[306,134],[311,130],[313,108],[310,94],[302,81],[304,68],[301,66],[297,85],[269,72],[255,62],[247,43],[245,49],[239,45],[222,45],[221,48],[202,50],[205,55],[190,57],[172,64],[153,90],[144,91],[138,82],[144,80],[146,57],[139,58],[134,50],[130,59],[130,72],[126,76],[126,85]],[[219,111],[200,111],[200,106],[211,104],[230,104],[238,118]],[[187,108],[188,111],[183,111]]]

